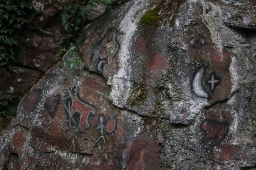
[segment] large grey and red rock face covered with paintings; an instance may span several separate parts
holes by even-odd
[[[86,69],[68,53],[45,68],[1,133],[0,165],[255,168],[255,5],[131,0],[86,25],[70,49]]]

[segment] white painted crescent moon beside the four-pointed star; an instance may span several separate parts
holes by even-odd
[[[198,72],[196,73],[196,76],[193,79],[193,91],[196,94],[196,96],[208,98],[208,94],[204,91],[202,87],[202,77],[204,76],[204,67],[201,67]]]

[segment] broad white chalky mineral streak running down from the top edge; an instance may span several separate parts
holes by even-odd
[[[120,35],[122,39],[120,51],[118,52],[118,59],[120,63],[120,68],[118,72],[112,78],[111,92],[109,95],[110,100],[113,101],[113,104],[118,107],[124,107],[128,99],[128,94],[131,90],[131,66],[129,65],[130,57],[130,47],[133,45],[132,37],[137,30],[137,23],[140,21],[138,18],[138,10],[145,6],[145,2],[142,0],[134,1],[133,6],[126,13],[126,16],[121,21],[118,30],[123,32],[124,35]]]

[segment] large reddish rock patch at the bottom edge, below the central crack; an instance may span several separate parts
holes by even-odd
[[[128,170],[159,170],[158,145],[150,139],[137,139],[129,150]]]

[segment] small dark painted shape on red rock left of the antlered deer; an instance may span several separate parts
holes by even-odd
[[[52,118],[54,118],[55,117],[55,113],[56,113],[56,111],[57,111],[57,109],[59,107],[59,104],[60,104],[60,94],[54,94],[54,95],[52,95],[50,100],[48,100],[48,102],[46,102],[44,104],[44,110]]]

